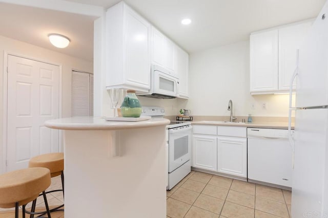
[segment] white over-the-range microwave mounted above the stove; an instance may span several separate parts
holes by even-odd
[[[150,79],[149,92],[137,95],[151,98],[176,98],[179,96],[179,79],[167,69],[152,65]]]

